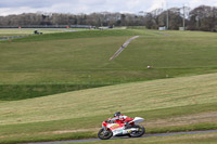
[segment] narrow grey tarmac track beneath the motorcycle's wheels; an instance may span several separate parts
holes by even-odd
[[[217,132],[217,130],[144,134],[142,138],[171,136],[171,135],[181,135],[181,134],[203,134],[203,133],[213,133],[213,132]],[[114,139],[136,139],[136,138],[123,136],[123,138],[113,138],[112,140],[114,140]],[[95,142],[95,141],[102,141],[102,140],[100,140],[100,139],[86,139],[86,140],[68,140],[68,141],[40,142],[40,143],[26,143],[26,144],[64,144],[64,143]]]

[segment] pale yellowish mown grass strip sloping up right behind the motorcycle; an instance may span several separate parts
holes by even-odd
[[[2,103],[0,114],[12,113],[1,116],[1,122],[4,125],[16,123],[18,119],[20,122],[49,121],[111,114],[117,109],[129,113],[214,103],[217,99],[215,96],[217,92],[216,78],[216,74],[210,74],[126,83],[55,94],[41,99]],[[133,99],[133,103],[131,99]],[[52,107],[55,107],[55,113],[53,113]],[[26,110],[28,108],[30,108],[30,112]],[[72,112],[76,113],[69,115]],[[16,113],[18,114],[17,118],[10,118]],[[37,117],[35,117],[36,115]]]

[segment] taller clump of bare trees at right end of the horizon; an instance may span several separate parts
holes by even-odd
[[[217,30],[217,8],[201,5],[193,10],[190,8],[171,8],[167,11],[157,9],[145,15],[145,26],[150,29],[168,27],[179,29],[186,27],[189,30]]]

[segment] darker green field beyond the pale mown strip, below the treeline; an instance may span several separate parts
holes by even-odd
[[[92,88],[217,71],[216,34],[166,32],[170,36],[141,29],[88,30],[33,36],[13,42],[2,41],[0,84],[1,88],[24,84],[24,91],[29,91],[28,88],[34,86],[43,89],[47,84],[51,86],[51,91],[64,92],[67,91],[62,89],[64,86]],[[110,62],[117,49],[136,35],[141,37],[133,40],[115,61]],[[153,68],[148,69],[148,65]],[[59,89],[53,84],[63,87]],[[13,90],[12,93],[23,94],[23,90]],[[33,95],[44,94],[36,91],[29,96]],[[13,100],[11,97],[14,95],[4,92],[2,97]]]

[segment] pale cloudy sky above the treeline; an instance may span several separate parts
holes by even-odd
[[[28,12],[92,13],[152,11],[182,5],[217,6],[217,0],[0,0],[0,15]]]

